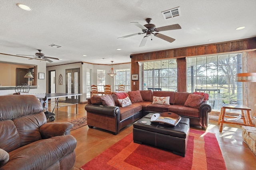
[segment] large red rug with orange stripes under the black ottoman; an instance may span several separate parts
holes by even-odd
[[[190,129],[185,157],[134,143],[130,133],[80,169],[226,170],[226,165],[215,135]]]

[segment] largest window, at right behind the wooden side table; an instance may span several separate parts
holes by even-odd
[[[242,72],[242,54],[225,54],[187,58],[188,92],[210,94],[212,109],[221,103],[243,104],[242,82],[236,82],[236,73]]]

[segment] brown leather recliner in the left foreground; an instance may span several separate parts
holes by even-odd
[[[72,123],[47,123],[33,95],[0,96],[0,170],[69,170],[76,139]]]

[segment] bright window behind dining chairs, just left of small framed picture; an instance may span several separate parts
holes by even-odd
[[[131,90],[130,75],[130,68],[116,70],[115,91],[118,91],[118,85],[121,84],[125,86],[125,91]]]

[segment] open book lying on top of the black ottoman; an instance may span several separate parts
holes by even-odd
[[[181,117],[176,113],[164,112],[154,113],[151,116],[150,122],[160,125],[176,126],[180,122]]]

